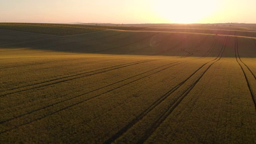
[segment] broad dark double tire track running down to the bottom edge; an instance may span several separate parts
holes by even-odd
[[[184,99],[184,97],[192,90],[192,88],[194,88],[194,86],[197,84],[197,82],[202,78],[202,76],[206,73],[206,71],[218,60],[220,60],[220,58],[222,57],[222,54],[225,50],[226,47],[226,42],[227,42],[227,38],[228,36],[225,36],[224,39],[224,43],[222,46],[222,49],[220,50],[218,56],[214,59],[211,60],[205,64],[203,64],[200,68],[198,68],[194,73],[192,73],[188,78],[186,78],[184,81],[180,82],[178,85],[176,85],[174,88],[172,88],[171,90],[169,90],[168,92],[166,92],[163,96],[161,96],[160,98],[158,98],[155,102],[153,102],[146,110],[144,110],[141,114],[139,114],[138,116],[136,116],[136,118],[134,118],[131,122],[129,122],[126,126],[124,126],[123,128],[121,128],[116,134],[114,134],[112,137],[108,138],[108,140],[106,140],[104,142],[104,144],[110,144],[112,142],[114,142],[115,140],[117,140],[118,138],[120,138],[120,136],[122,136],[124,133],[126,133],[128,130],[130,130],[136,123],[138,123],[140,120],[142,120],[147,114],[149,114],[154,108],[156,108],[156,106],[158,106],[159,104],[161,104],[164,100],[166,100],[166,98],[168,98],[168,96],[170,96],[170,94],[172,94],[174,91],[176,91],[180,86],[182,86],[185,82],[187,82],[190,78],[192,78],[192,76],[194,76],[199,70],[201,70],[202,67],[204,67],[206,64],[212,62],[212,64],[210,64],[208,66],[208,68],[206,68],[206,70],[204,70],[204,72],[201,74],[201,76],[199,78],[197,78],[197,80],[192,83],[192,85],[190,85],[190,87],[183,92],[180,97],[176,98],[176,100],[174,100],[173,104],[170,104],[169,107],[167,108],[167,111],[164,112],[163,114],[161,114],[161,116],[158,117],[158,119],[156,121],[154,121],[150,128],[148,128],[146,131],[144,131],[144,134],[142,136],[142,138],[140,138],[140,140],[138,141],[138,143],[144,143],[145,140],[148,139],[148,137],[154,132],[154,130],[156,130],[156,128],[158,128],[158,126],[160,126],[160,124],[167,118],[167,116],[169,116],[171,114],[171,112],[178,106],[178,104],[180,104],[180,102]]]

